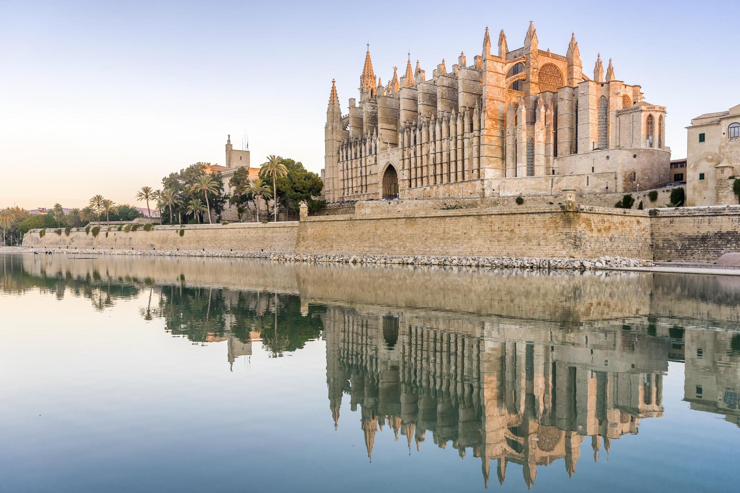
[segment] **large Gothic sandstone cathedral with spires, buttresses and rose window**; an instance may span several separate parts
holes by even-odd
[[[369,50],[360,98],[342,114],[332,81],[322,177],[329,202],[378,198],[505,197],[639,191],[667,183],[664,106],[641,86],[606,72],[583,73],[571,36],[565,55],[540,50],[530,23],[524,45],[509,50],[501,31],[491,52],[460,54],[427,79],[419,61],[388,84]]]

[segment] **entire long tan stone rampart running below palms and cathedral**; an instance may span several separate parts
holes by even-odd
[[[659,198],[662,200],[665,197]],[[69,236],[63,229],[57,234],[55,228],[48,228],[44,237],[40,237],[39,230],[30,231],[24,237],[24,246],[233,249],[290,254],[576,258],[609,255],[704,262],[713,262],[729,251],[740,251],[740,205],[654,211],[580,205],[579,211],[573,212],[566,211],[563,205],[527,205],[528,202],[513,207],[480,208],[485,201],[488,199],[463,203],[477,208],[419,211],[412,204],[428,201],[377,200],[357,203],[357,214],[306,217],[301,222],[155,226],[152,231],[138,228],[128,232],[104,227],[97,237],[81,228]]]

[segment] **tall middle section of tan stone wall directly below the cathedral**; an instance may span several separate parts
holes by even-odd
[[[560,205],[309,217],[296,252],[649,259],[650,219],[643,211],[575,213]]]

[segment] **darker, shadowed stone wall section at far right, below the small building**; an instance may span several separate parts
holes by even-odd
[[[653,244],[656,260],[713,262],[740,251],[740,205],[661,209]]]

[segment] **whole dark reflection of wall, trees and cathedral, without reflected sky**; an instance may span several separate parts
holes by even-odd
[[[584,444],[604,460],[664,416],[669,361],[690,409],[740,426],[736,278],[6,255],[1,286],[96,309],[138,296],[144,320],[226,342],[230,364],[255,341],[279,357],[324,339],[335,429],[357,426],[369,460],[384,427],[409,454],[454,449],[485,486],[511,463],[530,487],[552,463],[572,477]]]

